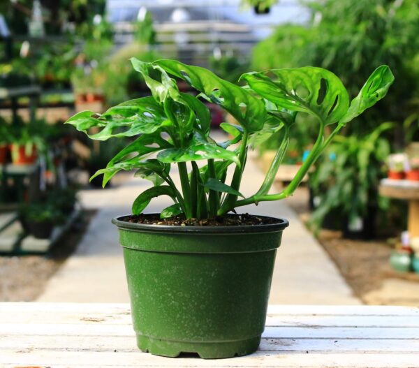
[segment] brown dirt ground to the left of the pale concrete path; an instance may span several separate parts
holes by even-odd
[[[0,256],[0,302],[31,302],[71,256],[96,211],[83,212],[68,233],[45,256]]]

